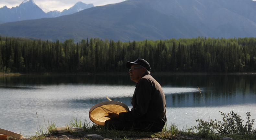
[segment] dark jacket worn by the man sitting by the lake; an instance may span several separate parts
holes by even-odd
[[[136,84],[132,98],[133,108],[120,113],[119,118],[126,121],[153,123],[161,129],[165,125],[166,101],[160,84],[151,76],[143,76]]]

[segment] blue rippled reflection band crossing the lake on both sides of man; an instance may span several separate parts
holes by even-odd
[[[254,94],[225,94],[220,95],[213,92],[202,93],[206,107],[217,107],[227,105],[241,105],[241,104],[253,104],[256,102],[256,96]],[[167,107],[205,107],[204,101],[199,92],[186,92],[186,93],[174,93],[166,94],[166,106]],[[132,97],[119,97],[111,98],[115,101],[120,101],[127,106],[131,106]],[[84,99],[64,99],[64,100],[48,100],[41,103],[44,107],[55,108],[90,108],[93,105],[106,101],[106,98],[84,98]],[[52,103],[56,103],[53,104]],[[130,108],[131,109],[131,108]]]

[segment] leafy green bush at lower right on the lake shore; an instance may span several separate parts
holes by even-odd
[[[250,112],[247,112],[246,122],[243,124],[241,116],[239,116],[234,111],[230,111],[230,113],[223,113],[219,111],[223,116],[222,121],[219,120],[210,120],[204,121],[202,119],[197,119],[197,126],[193,126],[192,129],[198,132],[200,137],[209,138],[210,136],[213,138],[214,134],[219,135],[229,135],[238,137],[239,139],[256,139],[256,129],[253,128],[254,119],[250,120]]]

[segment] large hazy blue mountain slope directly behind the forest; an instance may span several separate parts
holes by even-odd
[[[252,0],[126,0],[55,18],[0,24],[0,34],[64,41],[256,37]]]

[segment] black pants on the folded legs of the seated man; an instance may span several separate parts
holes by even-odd
[[[153,122],[130,122],[123,120],[106,120],[105,128],[122,130],[122,131],[144,131],[144,132],[160,132],[163,126],[157,126]]]

